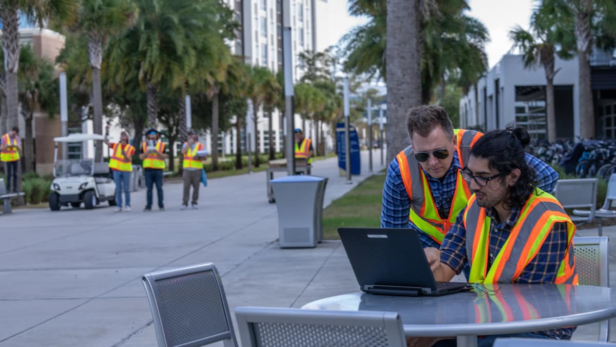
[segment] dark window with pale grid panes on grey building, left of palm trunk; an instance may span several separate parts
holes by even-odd
[[[525,128],[531,139],[547,136],[545,86],[516,86],[516,126]]]

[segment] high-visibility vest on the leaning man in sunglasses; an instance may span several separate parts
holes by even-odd
[[[474,130],[454,129],[456,135],[458,159],[460,167],[464,168],[468,157],[471,155],[471,147],[484,134]],[[400,166],[400,176],[407,190],[408,198],[411,200],[411,208],[408,219],[418,227],[419,230],[428,234],[439,244],[443,242],[445,234],[456,221],[458,213],[466,207],[468,198],[471,197],[471,190],[468,183],[464,181],[460,170],[456,175],[456,189],[452,198],[452,205],[449,208],[449,216],[443,219],[439,215],[438,208],[434,203],[432,191],[428,178],[423,173],[419,162],[413,155],[412,146],[397,155]]]

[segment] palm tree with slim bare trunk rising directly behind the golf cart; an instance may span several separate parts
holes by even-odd
[[[108,38],[132,25],[136,7],[129,0],[82,0],[74,31],[87,36],[87,55],[92,69],[94,133],[103,133],[103,101],[100,66]],[[96,145],[94,160],[103,160],[102,142]]]

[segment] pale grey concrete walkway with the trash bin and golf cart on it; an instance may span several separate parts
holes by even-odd
[[[337,158],[315,161],[312,173],[329,178],[326,204],[368,177],[367,158],[363,152],[363,174],[352,185],[339,177]],[[373,162],[381,169],[378,151]],[[103,207],[0,216],[0,345],[156,345],[140,276],[168,267],[215,263],[232,312],[357,290],[339,242],[278,247],[265,173],[208,183],[197,211],[179,211],[181,185],[166,184],[164,212],[141,212],[141,190],[132,194],[131,213]]]

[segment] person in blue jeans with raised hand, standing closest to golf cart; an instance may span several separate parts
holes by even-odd
[[[110,145],[109,126],[105,128],[105,144]],[[109,168],[113,172],[113,181],[116,183],[116,212],[122,211],[122,190],[126,202],[124,202],[124,211],[131,211],[131,173],[132,173],[132,156],[135,154],[135,147],[128,143],[128,133],[123,131],[120,133],[120,142],[113,144],[111,149],[111,158],[109,158]]]

